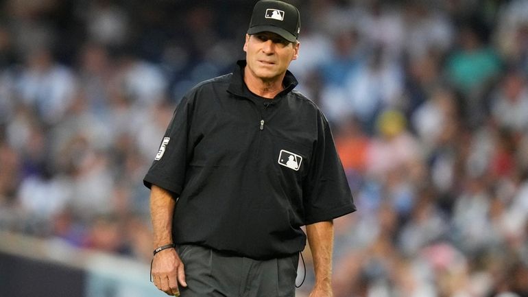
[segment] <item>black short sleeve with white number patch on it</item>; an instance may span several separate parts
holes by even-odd
[[[175,197],[182,191],[193,152],[193,141],[190,139],[193,106],[187,98],[183,97],[176,107],[154,161],[143,178],[146,187],[157,185],[171,191]]]

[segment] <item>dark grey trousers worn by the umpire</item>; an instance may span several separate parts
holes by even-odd
[[[202,246],[179,246],[187,287],[181,297],[294,297],[299,254],[258,261]]]

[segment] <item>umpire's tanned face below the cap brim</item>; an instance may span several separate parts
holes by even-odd
[[[291,60],[297,59],[299,43],[290,43],[272,32],[246,34],[244,51],[250,70],[248,74],[272,81],[282,79]]]

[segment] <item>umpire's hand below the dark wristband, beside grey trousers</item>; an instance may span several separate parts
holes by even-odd
[[[176,250],[169,248],[154,255],[152,279],[154,285],[167,295],[180,296],[178,284],[187,287],[187,283],[185,283],[184,265]]]

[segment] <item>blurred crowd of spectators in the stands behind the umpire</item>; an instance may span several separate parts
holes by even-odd
[[[358,207],[335,296],[528,296],[528,1],[289,2]],[[147,263],[143,176],[182,93],[243,58],[253,1],[0,5],[0,229]]]

